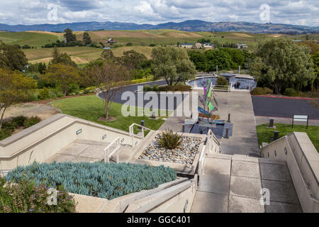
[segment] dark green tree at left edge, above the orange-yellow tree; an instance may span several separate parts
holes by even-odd
[[[26,55],[17,45],[6,45],[0,40],[0,67],[22,71],[26,65],[28,65]]]

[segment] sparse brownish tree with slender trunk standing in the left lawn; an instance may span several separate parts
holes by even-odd
[[[102,65],[93,65],[91,70],[86,72],[85,75],[88,84],[94,84],[99,88],[99,92],[101,92],[103,97],[105,118],[108,119],[108,112],[114,96],[130,79],[130,72],[123,65],[116,65],[113,62],[103,62]]]

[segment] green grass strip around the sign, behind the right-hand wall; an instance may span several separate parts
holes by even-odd
[[[289,133],[295,132],[304,132],[307,133],[313,145],[319,152],[319,126],[300,126],[294,125],[291,128],[291,124],[284,124],[284,123],[275,123],[276,129],[274,128],[267,128],[267,124],[262,124],[257,126],[257,136],[258,136],[258,143],[262,145],[262,142],[269,143],[269,138],[274,137],[274,131],[279,131],[279,138],[283,137],[284,135],[288,135]]]

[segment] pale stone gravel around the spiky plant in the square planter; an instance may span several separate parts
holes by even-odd
[[[201,138],[182,136],[181,144],[177,148],[167,149],[160,144],[161,137],[162,135],[160,134],[156,135],[138,158],[177,164],[193,164],[201,144]]]

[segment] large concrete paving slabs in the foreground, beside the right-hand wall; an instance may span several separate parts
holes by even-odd
[[[269,189],[269,205],[260,203],[262,188]],[[302,209],[286,162],[216,154],[206,157],[191,212],[289,213]]]

